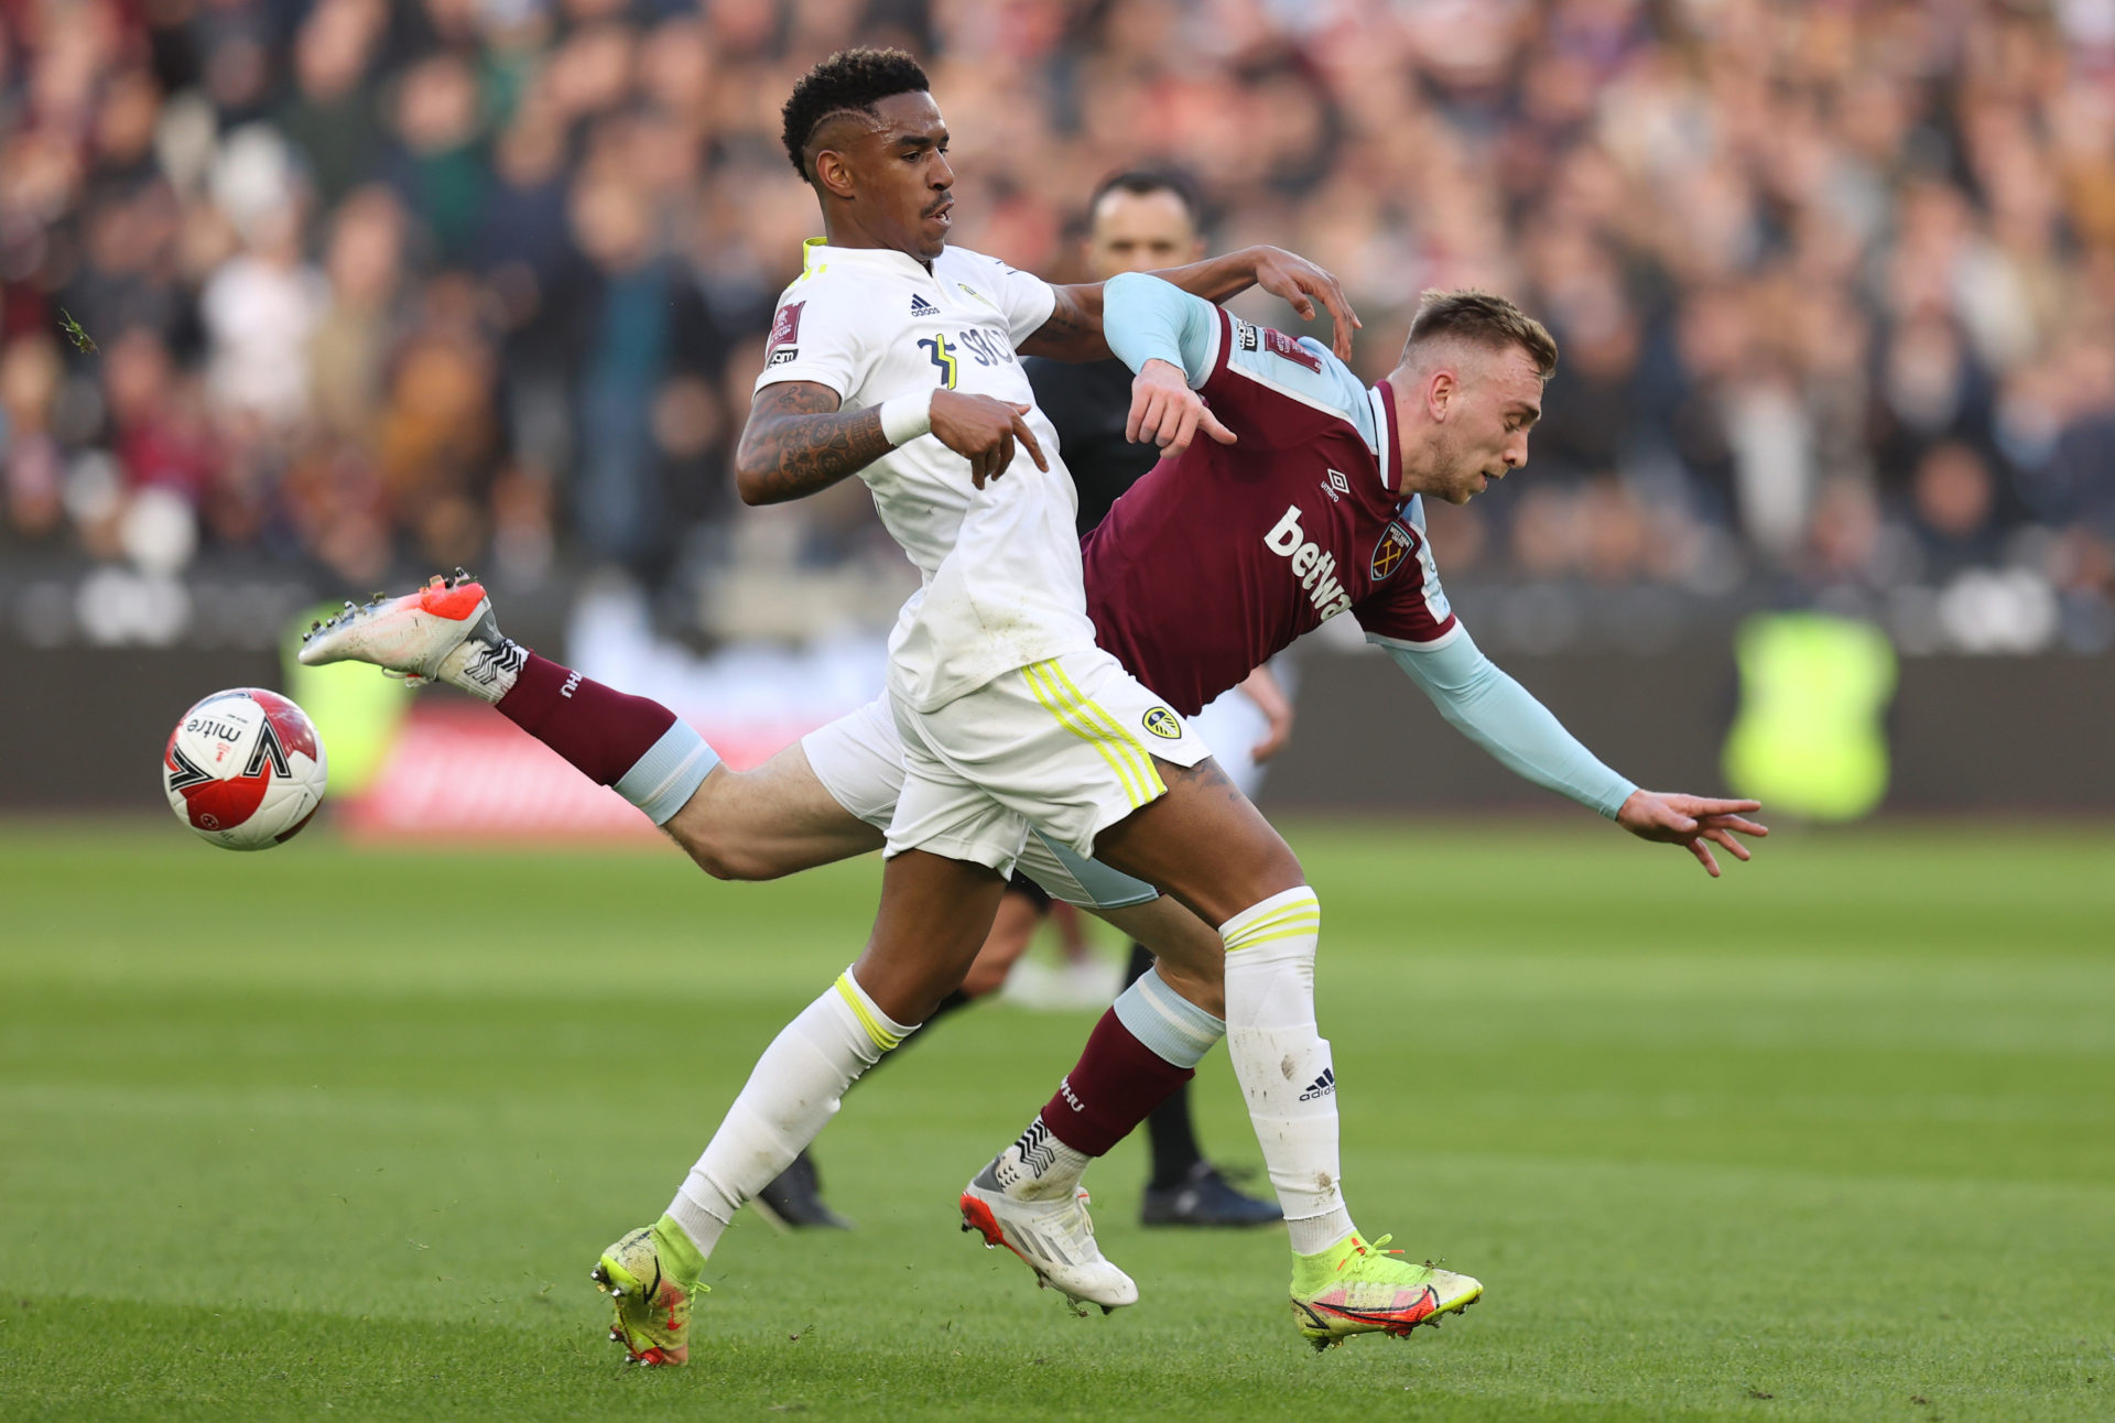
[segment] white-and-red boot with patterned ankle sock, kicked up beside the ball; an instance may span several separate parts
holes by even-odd
[[[444,681],[486,702],[503,698],[529,660],[499,634],[484,586],[461,569],[402,598],[347,603],[302,634],[298,655],[302,666],[372,662],[408,685]]]

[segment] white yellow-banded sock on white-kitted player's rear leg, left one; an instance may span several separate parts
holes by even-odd
[[[914,1032],[873,1006],[846,968],[764,1049],[668,1214],[711,1256],[721,1231],[838,1112],[838,1099]]]

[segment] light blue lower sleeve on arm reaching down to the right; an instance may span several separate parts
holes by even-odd
[[[1398,643],[1383,647],[1455,729],[1514,776],[1569,795],[1610,820],[1637,791],[1637,784],[1601,765],[1527,687],[1485,658],[1468,628],[1457,624],[1455,636],[1430,651]]]

